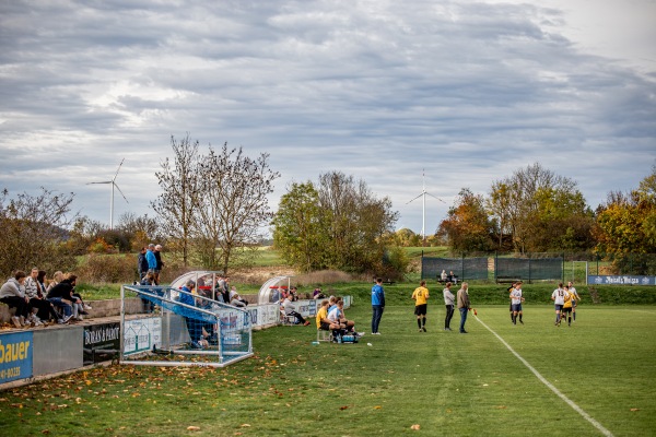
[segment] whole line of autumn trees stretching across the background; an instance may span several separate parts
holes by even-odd
[[[446,245],[473,251],[588,251],[656,253],[656,166],[630,192],[611,191],[593,210],[576,181],[540,164],[494,180],[487,196],[459,191],[447,216],[424,241],[410,229],[395,231],[399,213],[364,180],[328,172],[316,181],[292,182],[278,210],[268,203],[280,177],[269,155],[242,147],[200,147],[187,134],[171,138],[172,158],[155,173],[161,193],[153,215],[119,217],[108,229],[71,215],[74,193],[8,190],[0,196],[0,272],[39,265],[72,270],[75,256],[136,251],[166,244],[185,267],[247,268],[267,231],[284,261],[300,271],[337,269],[395,277],[408,265],[403,246]]]

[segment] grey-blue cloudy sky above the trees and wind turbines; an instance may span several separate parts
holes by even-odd
[[[199,5],[207,3],[204,5]],[[171,135],[341,170],[426,233],[534,163],[593,208],[656,164],[654,0],[0,2],[0,188],[149,213]]]

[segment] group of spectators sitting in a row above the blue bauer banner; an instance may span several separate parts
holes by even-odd
[[[55,272],[50,281],[47,272],[33,268],[30,275],[17,270],[0,287],[0,302],[15,308],[11,322],[16,328],[40,327],[82,320],[91,306],[75,292],[78,276]],[[46,283],[48,284],[46,286]]]

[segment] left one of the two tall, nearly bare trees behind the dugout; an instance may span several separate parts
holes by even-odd
[[[168,157],[161,163],[162,170],[155,173],[162,193],[151,206],[160,216],[162,233],[172,238],[173,249],[179,247],[183,263],[189,263],[194,238],[194,206],[199,198],[198,141],[191,142],[189,134],[181,141],[171,137],[173,162]]]

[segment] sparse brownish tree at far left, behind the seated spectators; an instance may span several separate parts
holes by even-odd
[[[70,226],[70,205],[74,194],[56,194],[42,187],[37,196],[25,193],[10,199],[0,196],[0,273],[7,277],[15,270],[33,267],[52,272],[72,270],[75,259],[66,250],[66,229]]]

